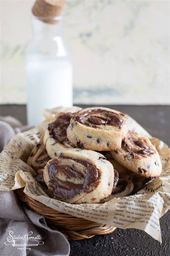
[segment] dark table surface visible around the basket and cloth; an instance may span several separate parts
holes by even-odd
[[[82,106],[81,107],[88,107]],[[132,106],[112,105],[133,117],[148,133],[170,145],[170,106]],[[0,115],[11,115],[23,124],[27,123],[25,105],[0,105]],[[92,239],[70,241],[71,256],[167,256],[170,254],[170,214],[167,212],[160,219],[162,244],[148,234],[137,229],[116,229],[109,235],[98,235]]]

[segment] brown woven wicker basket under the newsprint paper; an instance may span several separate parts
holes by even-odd
[[[23,188],[16,189],[17,197],[25,202],[30,209],[45,217],[48,224],[57,227],[67,239],[81,240],[85,238],[92,238],[95,235],[105,235],[112,233],[116,228],[90,220],[77,218],[69,214],[64,214],[53,210],[46,205],[34,200],[23,192]]]

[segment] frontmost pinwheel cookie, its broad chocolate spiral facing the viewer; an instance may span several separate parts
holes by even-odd
[[[78,148],[55,152],[43,176],[53,198],[74,204],[99,203],[114,183],[113,166],[102,154]]]

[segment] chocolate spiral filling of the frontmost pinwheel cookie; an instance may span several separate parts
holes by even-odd
[[[52,197],[58,200],[74,198],[80,192],[89,193],[99,184],[98,169],[85,161],[63,157],[49,162],[49,184]]]

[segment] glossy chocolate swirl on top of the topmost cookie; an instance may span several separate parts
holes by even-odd
[[[105,109],[96,108],[89,109],[83,113],[78,112],[74,116],[74,120],[90,127],[98,127],[101,125],[122,127],[123,117],[125,117],[125,115],[122,112],[115,113]]]

